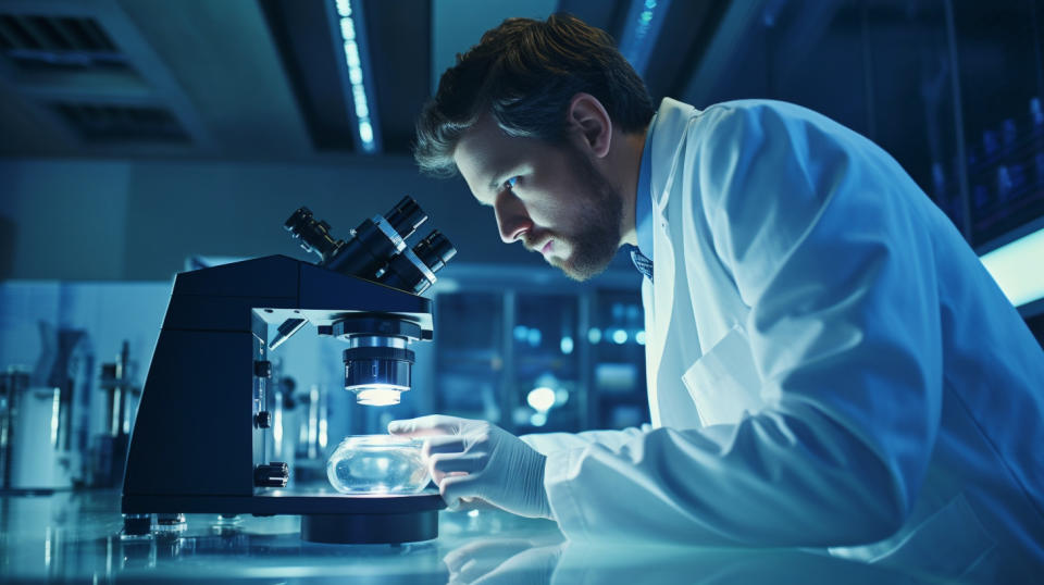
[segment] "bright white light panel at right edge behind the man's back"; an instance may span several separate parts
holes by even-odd
[[[1044,298],[1044,228],[983,254],[983,265],[993,275],[1011,304],[1019,307]]]

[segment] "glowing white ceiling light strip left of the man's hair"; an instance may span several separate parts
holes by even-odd
[[[366,42],[363,30],[360,0],[335,0],[340,18],[340,38],[344,42],[345,63],[348,65],[348,83],[351,88],[352,113],[357,122],[359,144],[365,152],[378,150],[376,112],[366,94]],[[372,84],[371,84],[372,85]]]

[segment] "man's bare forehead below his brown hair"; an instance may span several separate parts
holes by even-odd
[[[504,173],[526,160],[532,153],[532,138],[508,136],[493,116],[486,114],[461,136],[453,149],[453,161],[471,192],[481,200],[493,195],[492,186]]]

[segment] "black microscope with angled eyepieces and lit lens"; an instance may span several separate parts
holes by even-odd
[[[395,404],[411,387],[409,345],[432,339],[432,301],[420,294],[457,250],[438,231],[412,248],[427,219],[406,197],[335,239],[300,208],[285,228],[320,257],[270,256],[179,273],[141,393],[123,483],[125,535],[147,535],[152,514],[301,516],[319,543],[396,544],[438,536],[434,490],[346,495],[287,489],[271,461],[269,352],[311,324],[346,345],[345,389],[362,404]]]

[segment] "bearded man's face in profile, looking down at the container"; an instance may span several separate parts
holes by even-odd
[[[612,261],[623,198],[577,145],[508,136],[486,115],[453,160],[475,199],[493,208],[505,242],[522,241],[576,281]]]

